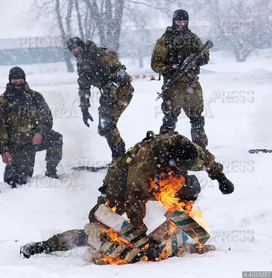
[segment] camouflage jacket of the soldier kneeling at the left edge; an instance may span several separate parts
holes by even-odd
[[[0,96],[0,153],[12,147],[31,144],[35,133],[44,135],[52,129],[53,118],[40,92],[12,92],[9,83]]]

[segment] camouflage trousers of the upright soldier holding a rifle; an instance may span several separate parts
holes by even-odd
[[[162,99],[164,117],[160,133],[175,131],[178,117],[183,109],[192,126],[192,141],[201,147],[207,147],[207,136],[204,130],[205,120],[201,115],[204,109],[203,90],[198,82],[198,76],[196,76],[196,81],[191,84],[176,83],[167,90]]]

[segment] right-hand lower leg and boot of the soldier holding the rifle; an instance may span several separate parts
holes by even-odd
[[[204,117],[193,117],[190,119],[191,123],[191,136],[192,141],[198,145],[199,147],[203,147],[206,149],[207,147],[207,136],[205,133],[204,125],[205,120]]]

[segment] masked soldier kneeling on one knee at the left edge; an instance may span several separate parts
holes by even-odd
[[[46,149],[46,176],[58,179],[62,135],[52,130],[49,106],[40,92],[26,83],[20,67],[12,67],[6,91],[0,96],[0,153],[6,163],[3,180],[12,186],[32,177],[35,152]]]

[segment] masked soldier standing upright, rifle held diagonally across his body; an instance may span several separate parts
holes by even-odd
[[[190,55],[203,47],[203,42],[188,28],[189,16],[185,10],[176,10],[173,14],[173,25],[158,40],[153,49],[151,67],[154,72],[162,74],[164,85],[175,76],[176,68]],[[189,117],[192,125],[192,141],[201,147],[207,147],[207,136],[204,130],[203,91],[198,82],[200,66],[209,61],[209,51],[204,51],[195,67],[180,76],[176,84],[162,96],[164,118],[160,132],[174,131],[181,109]],[[164,85],[162,88],[164,88]]]

